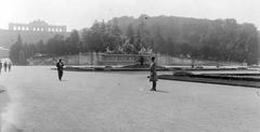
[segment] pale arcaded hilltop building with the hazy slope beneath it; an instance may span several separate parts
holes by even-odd
[[[44,21],[34,21],[29,24],[10,23],[9,29],[0,29],[0,47],[9,49],[16,42],[18,35],[28,44],[40,40],[47,41],[55,35],[67,37],[69,32],[66,26],[50,25]]]

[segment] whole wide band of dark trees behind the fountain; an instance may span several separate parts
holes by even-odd
[[[56,35],[47,42],[27,44],[17,38],[10,51],[13,62],[23,63],[39,54],[58,56],[79,52],[136,54],[142,50],[202,60],[259,61],[259,35],[252,24],[235,19],[195,19],[184,17],[118,17],[94,22],[90,28]]]

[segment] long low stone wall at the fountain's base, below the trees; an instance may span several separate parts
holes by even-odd
[[[177,66],[217,66],[217,65],[240,65],[232,62],[216,62],[216,61],[199,61],[192,58],[181,58],[170,55],[143,55],[145,63],[151,63],[151,56],[156,56],[158,65],[177,65]],[[138,64],[140,55],[138,54],[105,54],[105,53],[79,53],[76,55],[65,55],[61,57],[37,57],[30,60],[30,64],[55,64],[55,62],[62,58],[66,65],[130,65]],[[39,63],[40,62],[40,63]]]

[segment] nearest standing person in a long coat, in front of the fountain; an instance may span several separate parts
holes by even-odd
[[[150,66],[150,81],[153,82],[153,88],[151,91],[156,91],[156,81],[157,81],[157,72],[156,72],[156,63],[155,57],[152,57],[152,64]]]

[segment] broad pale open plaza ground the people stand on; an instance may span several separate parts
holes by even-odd
[[[159,80],[151,92],[146,71],[65,71],[58,81],[51,68],[0,75],[1,132],[260,131],[259,89]]]

